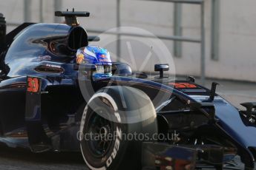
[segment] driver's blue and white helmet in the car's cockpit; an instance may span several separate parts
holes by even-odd
[[[76,52],[77,64],[95,64],[96,71],[93,78],[108,78],[112,76],[111,56],[108,50],[99,46],[82,47]]]

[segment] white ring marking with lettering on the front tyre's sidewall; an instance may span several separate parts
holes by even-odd
[[[93,97],[90,99],[90,101],[88,101],[88,103],[91,103],[91,101],[93,101],[94,98],[98,98],[98,97],[103,97],[103,98],[108,99],[108,101],[111,103],[111,105],[114,108],[114,115],[116,117],[116,120],[118,121],[118,123],[121,123],[121,117],[120,117],[119,112],[118,112],[118,107],[117,107],[116,102],[114,101],[114,99],[111,97],[111,95],[108,95],[105,92],[96,93],[95,95],[93,95]],[[88,111],[88,104],[85,106],[85,110],[82,114],[82,120],[81,120],[81,124],[80,124],[80,134],[83,131],[84,126],[85,126],[85,118],[86,118],[87,111]],[[79,137],[79,140],[82,140],[82,137]],[[120,140],[122,140],[122,131],[118,126],[116,126],[116,141],[115,141],[115,144],[114,144],[113,152],[111,153],[111,156],[108,157],[108,159],[106,161],[106,165],[102,166],[101,168],[95,168],[95,167],[91,166],[90,163],[88,163],[88,161],[85,159],[84,153],[82,152],[82,146],[80,144],[82,157],[84,158],[85,163],[89,167],[89,169],[92,169],[92,170],[106,170],[109,166],[111,166],[111,163],[113,162],[113,160],[116,157],[117,152],[119,151]]]

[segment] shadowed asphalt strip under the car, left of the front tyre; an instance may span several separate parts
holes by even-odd
[[[24,149],[0,146],[0,170],[88,170],[82,154],[41,153],[33,154]]]

